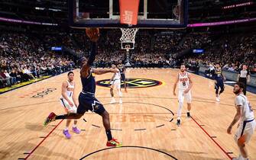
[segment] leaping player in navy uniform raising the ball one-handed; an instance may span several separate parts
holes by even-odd
[[[77,112],[63,115],[56,115],[53,112],[49,114],[44,122],[44,126],[47,126],[53,120],[62,119],[79,119],[88,110],[99,114],[102,117],[103,126],[105,127],[105,133],[107,136],[106,146],[122,146],[122,143],[112,137],[110,130],[109,113],[105,110],[103,105],[95,98],[96,82],[92,73],[96,75],[102,75],[108,72],[118,72],[118,69],[92,69],[92,63],[96,58],[96,42],[99,39],[99,28],[87,28],[86,34],[92,41],[92,51],[89,55],[89,59],[85,57],[79,59],[79,64],[82,67],[80,71],[81,82],[83,85],[83,91],[79,94],[79,105]]]

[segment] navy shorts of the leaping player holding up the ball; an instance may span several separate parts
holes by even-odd
[[[105,108],[92,94],[79,94],[79,105],[77,107],[77,114],[85,114],[88,110],[101,115]]]

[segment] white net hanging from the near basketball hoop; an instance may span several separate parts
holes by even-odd
[[[135,36],[138,28],[120,28],[122,31],[122,37],[120,38],[122,43],[135,43]]]

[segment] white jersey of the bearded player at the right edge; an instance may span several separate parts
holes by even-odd
[[[248,101],[248,98],[244,94],[239,94],[235,98],[235,106],[241,106],[241,117],[240,122],[246,120],[254,120],[254,112],[251,110],[251,104]]]

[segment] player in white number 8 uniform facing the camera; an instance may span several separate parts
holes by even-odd
[[[193,82],[192,82],[192,78],[189,72],[186,72],[186,66],[185,65],[181,65],[180,66],[180,73],[178,73],[177,76],[177,80],[173,85],[173,95],[176,96],[176,87],[177,87],[177,83],[179,83],[179,94],[178,94],[178,101],[179,101],[179,108],[178,108],[178,117],[177,117],[177,126],[180,126],[181,120],[181,111],[182,111],[182,107],[183,107],[183,101],[184,98],[186,99],[186,103],[187,103],[187,112],[186,115],[187,117],[190,117],[190,110],[191,110],[191,91],[190,89],[192,88]]]

